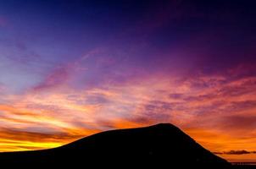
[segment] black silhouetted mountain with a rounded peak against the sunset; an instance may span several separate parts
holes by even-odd
[[[49,150],[0,153],[0,165],[25,168],[230,167],[230,163],[204,149],[179,128],[167,123],[93,134]]]

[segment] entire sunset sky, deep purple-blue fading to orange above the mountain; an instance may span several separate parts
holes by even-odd
[[[255,5],[0,0],[0,151],[173,123],[256,161]]]

